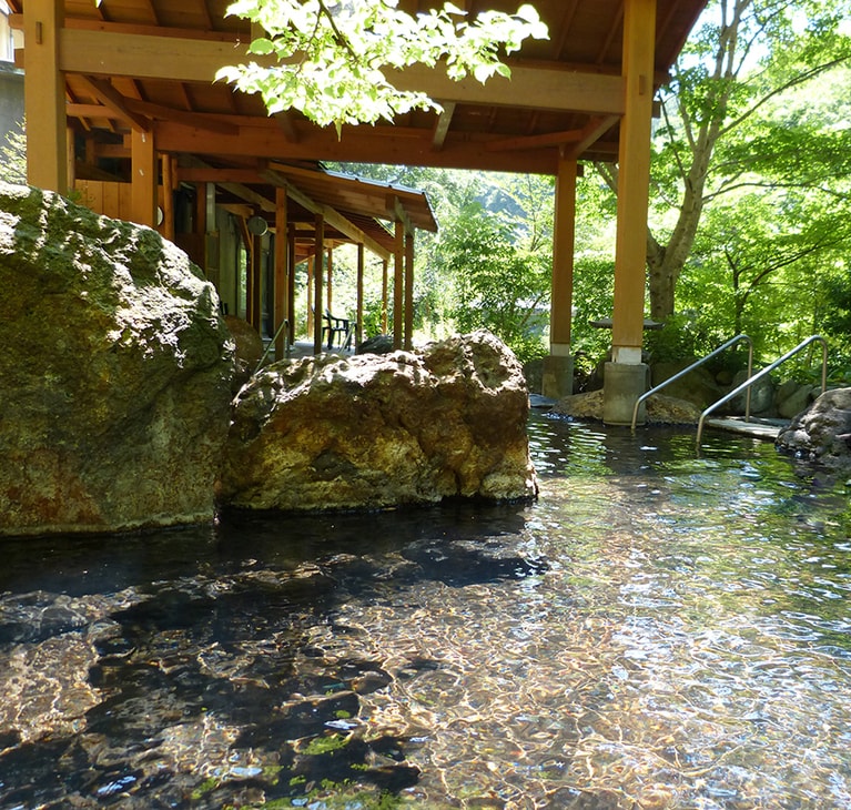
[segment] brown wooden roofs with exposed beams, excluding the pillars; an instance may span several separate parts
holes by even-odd
[[[9,0],[23,28],[28,0]],[[424,90],[443,112],[414,111],[392,124],[317,128],[298,112],[269,117],[257,95],[213,81],[245,60],[246,20],[225,17],[229,0],[57,0],[69,122],[84,136],[79,176],[129,176],[131,130],[152,132],[156,150],[178,159],[179,178],[216,182],[234,204],[271,215],[282,182],[312,205],[346,212],[385,249],[381,219],[434,230],[423,195],[317,175],[320,161],[397,163],[556,173],[559,156],[617,160],[625,104],[621,75],[625,0],[536,0],[549,40],[528,41],[509,59],[513,78],[448,80],[442,71],[395,72],[399,87]],[[657,0],[656,74],[662,83],[707,0]],[[442,0],[401,0],[416,12]],[[455,0],[475,14],[515,11],[518,0]],[[514,54],[516,55],[516,54]],[[22,60],[26,64],[26,42]],[[78,143],[81,139],[78,139]],[[372,221],[373,225],[368,222]]]

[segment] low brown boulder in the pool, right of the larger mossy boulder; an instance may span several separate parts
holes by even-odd
[[[528,407],[520,364],[486,332],[418,353],[281,361],[234,403],[221,499],[314,510],[530,498]]]

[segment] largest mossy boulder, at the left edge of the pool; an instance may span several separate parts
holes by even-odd
[[[155,231],[0,183],[0,535],[214,516],[232,351]]]

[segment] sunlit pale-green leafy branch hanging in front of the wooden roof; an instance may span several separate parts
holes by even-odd
[[[250,52],[273,64],[231,65],[217,78],[260,93],[270,113],[301,110],[311,121],[334,124],[393,120],[412,109],[439,109],[425,93],[393,84],[393,70],[438,65],[454,80],[510,75],[500,50],[519,49],[527,37],[547,38],[531,6],[516,14],[483,11],[468,20],[445,3],[413,17],[397,0],[236,0],[227,9],[257,23],[265,36]]]

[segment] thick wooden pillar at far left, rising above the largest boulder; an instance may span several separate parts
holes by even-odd
[[[27,0],[23,14],[27,181],[60,194],[67,194],[69,189],[65,79],[59,70],[59,30],[64,24],[64,6],[55,0]]]

